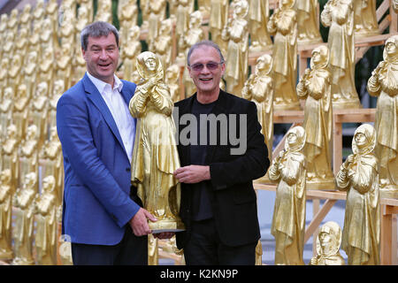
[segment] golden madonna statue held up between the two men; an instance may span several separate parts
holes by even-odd
[[[143,206],[158,221],[149,221],[152,231],[184,228],[179,217],[180,183],[173,172],[180,167],[172,119],[172,97],[163,82],[159,57],[146,51],[137,57],[142,82],[135,89],[129,109],[138,118],[134,141],[132,184]],[[155,233],[155,232],[154,232]]]

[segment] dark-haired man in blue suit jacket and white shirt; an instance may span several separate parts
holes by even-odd
[[[130,190],[136,120],[128,111],[135,84],[114,74],[119,34],[105,22],[81,32],[88,72],[57,103],[65,191],[62,230],[73,264],[147,264],[148,218]]]

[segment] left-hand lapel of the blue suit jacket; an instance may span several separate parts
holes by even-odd
[[[116,139],[119,141],[122,149],[125,149],[121,136],[119,134],[118,126],[116,126],[115,120],[112,117],[111,111],[103,100],[103,96],[99,93],[96,86],[93,82],[88,78],[88,75],[85,74],[83,77],[83,85],[86,93],[88,93],[88,98],[96,105],[96,108],[103,115],[103,119],[105,119],[108,126],[111,128],[111,132],[115,135]]]

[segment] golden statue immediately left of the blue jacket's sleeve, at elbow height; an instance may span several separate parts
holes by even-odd
[[[62,204],[62,195],[64,187],[64,164],[62,156],[61,142],[57,135],[57,126],[50,128],[50,139],[44,142],[40,151],[43,163],[42,176],[52,176],[54,178],[54,195],[57,205]]]

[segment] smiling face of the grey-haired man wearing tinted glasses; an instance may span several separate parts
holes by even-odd
[[[206,64],[210,62],[218,64],[220,61],[221,58],[218,51],[211,46],[203,45],[192,52],[189,58],[191,67],[188,67],[188,71],[198,92],[209,93],[219,88],[219,82],[224,74],[226,65],[223,63],[218,65],[215,70],[210,71]],[[192,66],[196,64],[203,64],[203,69],[201,71],[193,70]]]

